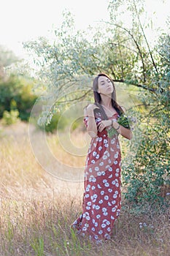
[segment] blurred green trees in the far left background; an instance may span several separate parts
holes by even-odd
[[[31,78],[19,76],[15,72],[4,72],[5,68],[18,61],[12,51],[0,46],[0,118],[5,110],[16,110],[16,113],[19,111],[22,120],[28,121],[31,108],[36,101],[36,95],[32,91],[34,82]]]

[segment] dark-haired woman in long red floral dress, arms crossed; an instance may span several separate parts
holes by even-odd
[[[85,108],[85,125],[91,142],[85,165],[82,214],[72,224],[82,236],[100,242],[109,239],[120,214],[120,144],[118,135],[131,140],[131,129],[117,123],[123,109],[116,102],[115,86],[105,74],[93,80],[95,104]],[[114,128],[115,135],[108,136]]]

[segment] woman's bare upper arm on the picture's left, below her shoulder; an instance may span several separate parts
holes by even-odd
[[[95,138],[97,135],[97,125],[96,125],[96,120],[94,116],[93,110],[96,108],[96,105],[90,104],[88,107],[85,108],[84,110],[84,115],[88,116],[88,127],[87,127],[87,132],[88,135],[90,135],[91,138]]]

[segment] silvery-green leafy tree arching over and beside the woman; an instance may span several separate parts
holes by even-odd
[[[131,26],[121,21],[123,4],[131,16]],[[98,72],[106,72],[115,83],[143,89],[138,108],[142,141],[136,158],[123,170],[123,182],[128,200],[163,201],[161,188],[169,184],[169,36],[164,34],[155,47],[150,45],[144,30],[152,22],[142,23],[144,1],[109,1],[109,12],[110,21],[102,23],[102,28],[96,28],[95,33],[89,28],[90,39],[85,31],[74,30],[71,14],[65,13],[52,44],[39,38],[27,42],[25,48],[36,53],[39,76],[47,92],[53,92],[54,109],[64,102],[69,106],[69,102],[93,99],[91,78]],[[49,113],[42,116],[47,120]]]

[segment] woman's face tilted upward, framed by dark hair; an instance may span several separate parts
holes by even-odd
[[[98,93],[104,95],[111,95],[113,92],[113,85],[109,78],[104,75],[98,78]]]

